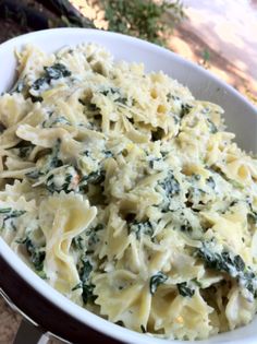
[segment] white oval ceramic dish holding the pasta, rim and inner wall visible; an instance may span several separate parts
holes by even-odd
[[[257,110],[242,95],[192,62],[163,48],[120,34],[83,28],[58,28],[13,38],[0,45],[0,93],[8,91],[15,79],[16,60],[13,54],[14,48],[21,48],[24,44],[34,44],[45,51],[51,52],[66,45],[74,46],[89,41],[103,45],[118,60],[144,62],[147,71],[162,70],[171,78],[178,79],[179,82],[188,86],[196,98],[221,105],[225,109],[224,117],[229,130],[236,133],[238,144],[247,151],[257,153]],[[1,238],[0,257],[38,295],[44,295],[52,305],[69,313],[71,318],[79,320],[86,327],[90,327],[123,343],[168,343],[166,340],[123,329],[76,306],[40,280],[12,252]],[[29,299],[27,303],[29,304]],[[86,327],[84,328],[83,324],[81,325],[81,331],[86,331]],[[174,341],[173,343],[180,344],[185,342]],[[219,334],[200,343],[256,344],[257,318],[247,327]]]

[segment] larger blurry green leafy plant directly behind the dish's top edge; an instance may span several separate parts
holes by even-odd
[[[185,17],[180,0],[100,0],[108,29],[164,45],[172,28]]]

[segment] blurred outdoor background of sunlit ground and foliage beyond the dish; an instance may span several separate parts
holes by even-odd
[[[0,0],[0,43],[61,26],[109,29],[164,46],[257,105],[257,0]],[[13,342],[20,322],[0,298],[0,344]]]

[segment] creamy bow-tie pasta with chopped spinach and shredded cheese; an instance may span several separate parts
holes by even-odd
[[[220,106],[97,45],[16,51],[0,97],[0,234],[125,328],[199,340],[257,310],[257,159]]]

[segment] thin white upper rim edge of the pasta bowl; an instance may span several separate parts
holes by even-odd
[[[189,66],[189,68],[195,69],[197,71],[199,71],[200,73],[205,73],[206,76],[209,80],[215,80],[216,82],[218,82],[224,90],[229,91],[230,93],[232,93],[233,95],[235,95],[237,98],[241,99],[241,102],[245,103],[249,109],[255,112],[257,115],[257,109],[256,107],[250,104],[247,98],[245,96],[243,96],[242,94],[240,94],[235,88],[233,88],[231,85],[227,84],[225,82],[221,81],[219,78],[217,78],[216,75],[213,75],[211,72],[205,70],[204,68],[201,68],[200,66],[197,66],[196,63],[188,61],[186,59],[184,59],[183,57],[169,51],[168,49],[163,48],[163,47],[159,47],[156,46],[151,43],[135,38],[135,37],[131,37],[131,36],[126,36],[126,35],[122,35],[119,33],[112,33],[112,32],[105,32],[105,31],[99,31],[99,29],[93,29],[93,28],[51,28],[51,29],[44,29],[44,31],[38,31],[38,32],[33,32],[33,33],[28,33],[25,35],[21,35],[17,37],[14,37],[5,43],[2,43],[0,45],[0,51],[7,49],[7,51],[10,48],[13,48],[14,46],[21,46],[23,45],[26,38],[37,38],[38,40],[40,40],[40,38],[49,36],[49,39],[51,38],[51,36],[54,35],[65,35],[66,33],[73,33],[74,35],[76,34],[81,34],[81,33],[87,33],[88,35],[95,36],[95,35],[100,35],[100,36],[112,36],[113,38],[118,37],[122,40],[128,41],[135,46],[140,46],[140,47],[146,47],[148,50],[158,50],[159,54],[166,55],[168,56],[168,58],[171,58],[175,61],[179,61],[180,63],[184,63]],[[94,38],[90,38],[94,39]],[[85,41],[88,40],[88,37],[85,36]],[[29,41],[29,39],[28,39]],[[45,296],[48,300],[50,300],[54,306],[57,306],[58,308],[64,310],[65,312],[69,313],[77,319],[78,321],[83,321],[83,323],[85,323],[86,325],[89,325],[90,328],[93,328],[94,330],[101,332],[103,334],[107,334],[113,339],[117,339],[119,341],[124,342],[124,340],[127,343],[138,343],[138,344],[144,344],[146,343],[146,341],[149,344],[154,344],[154,343],[168,343],[167,340],[163,339],[157,339],[157,337],[151,337],[151,336],[146,336],[145,334],[142,333],[137,333],[135,331],[125,329],[125,328],[121,328],[106,319],[102,319],[99,316],[94,315],[93,312],[88,311],[87,309],[79,307],[78,305],[74,304],[73,301],[71,301],[70,299],[68,299],[66,297],[64,297],[62,294],[60,294],[59,292],[57,292],[54,288],[52,288],[49,284],[47,284],[45,281],[42,281],[39,276],[37,276],[35,274],[35,272],[33,272],[33,270],[30,268],[28,268],[12,250],[11,248],[3,241],[3,239],[0,237],[0,257],[2,257],[2,259],[4,261],[8,262],[8,264],[19,274],[19,276],[21,278],[23,278],[24,281],[26,281],[27,283],[29,283],[29,285],[33,286],[33,288],[39,293],[40,295]],[[63,305],[66,305],[65,307]],[[237,330],[234,330],[237,331]],[[233,331],[233,332],[234,332]],[[256,337],[257,339],[257,337]],[[255,340],[253,340],[254,343]],[[182,344],[185,343],[184,341],[178,341],[175,340],[174,343],[176,344]],[[186,343],[195,343],[192,341],[188,341]],[[201,344],[208,344],[209,341],[201,341]],[[217,342],[218,343],[218,342]],[[227,341],[223,341],[222,343],[227,343]],[[243,343],[241,342],[241,340],[238,340],[238,342],[234,342],[234,343]],[[247,339],[247,343],[252,343],[252,339]]]

